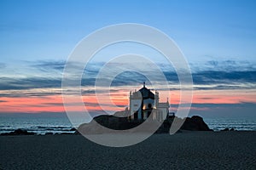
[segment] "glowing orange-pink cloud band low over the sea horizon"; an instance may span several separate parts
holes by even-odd
[[[6,92],[5,92],[6,93]],[[129,105],[129,91],[118,90],[107,94],[100,94],[102,106],[97,105],[98,100],[95,94],[83,96],[84,106],[79,106],[79,99],[73,98],[67,101],[69,111],[82,111],[84,107],[88,111],[122,111]],[[166,101],[169,98],[171,104],[179,104],[180,92],[172,91],[168,96],[167,91],[160,91],[160,100]],[[0,112],[63,112],[65,111],[61,94],[48,96],[27,96],[24,97],[0,97]],[[255,90],[196,90],[194,91],[193,104],[239,104],[256,103]],[[118,107],[119,106],[119,107]],[[83,107],[83,108],[82,108]],[[173,108],[172,108],[173,109]],[[195,110],[207,110],[207,108],[192,108]],[[175,110],[175,109],[174,109]]]

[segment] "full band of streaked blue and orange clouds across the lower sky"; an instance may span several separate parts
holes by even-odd
[[[8,67],[8,65],[3,65],[3,70],[6,66]],[[30,71],[35,71],[34,74],[30,72],[28,75],[0,77],[0,112],[64,112],[61,98],[61,77],[65,62],[62,60],[47,60],[27,62],[27,65]],[[73,68],[76,69],[78,65],[73,63]],[[140,73],[125,71],[115,77],[110,89],[108,87],[95,89],[96,75],[102,65],[104,63],[87,65],[81,81],[84,105],[92,114],[96,115],[104,112],[101,106],[107,108],[108,111],[123,110],[129,102],[129,91],[135,87],[141,87],[142,82],[147,80],[147,77]],[[175,111],[179,104],[180,95],[177,74],[170,65],[158,65],[163,70],[171,88],[166,89],[161,86],[158,88],[161,99],[169,98],[170,96],[166,92],[171,90],[172,93],[169,99],[171,99],[172,111]],[[224,67],[224,65],[227,65],[227,67]],[[113,66],[122,67],[118,64]],[[191,111],[197,111],[198,113],[213,109],[224,110],[229,107],[245,109],[245,106],[255,108],[256,69],[254,69],[253,64],[231,60],[221,63],[220,61],[210,60],[201,65],[201,70],[192,67],[192,71],[194,99]],[[146,73],[155,76],[154,72],[150,72],[150,69]],[[109,79],[108,75],[103,78]],[[150,87],[149,82],[148,87]],[[111,94],[111,101],[108,99],[108,91]],[[99,93],[104,99],[101,106],[97,104],[95,92]],[[70,102],[68,105],[72,107],[73,111],[80,111],[79,103],[76,102]]]

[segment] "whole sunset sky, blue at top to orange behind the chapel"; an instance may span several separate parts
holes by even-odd
[[[121,23],[153,26],[172,38],[192,71],[194,98],[190,115],[255,117],[255,1],[0,1],[0,113],[62,113],[61,77],[76,45],[91,32]],[[90,61],[82,80],[84,104],[101,113],[92,93],[102,65],[122,53],[145,54],[171,86],[172,111],[179,104],[178,79],[172,66],[152,48],[114,44]],[[119,75],[111,97],[119,109],[145,77]],[[148,87],[150,87],[150,83]],[[106,90],[106,89],[105,89]],[[102,98],[105,97],[102,88]],[[111,105],[109,111],[115,111]],[[73,105],[74,111],[79,108]]]

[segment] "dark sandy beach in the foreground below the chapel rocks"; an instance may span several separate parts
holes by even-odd
[[[74,134],[0,136],[0,169],[256,169],[256,132],[155,134],[125,148]]]

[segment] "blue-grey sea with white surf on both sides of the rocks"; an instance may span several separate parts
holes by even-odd
[[[256,118],[204,118],[204,121],[214,131],[226,127],[239,131],[256,131]],[[0,114],[0,133],[13,132],[18,128],[38,134],[74,133],[70,131],[73,125],[64,114],[54,116]]]

